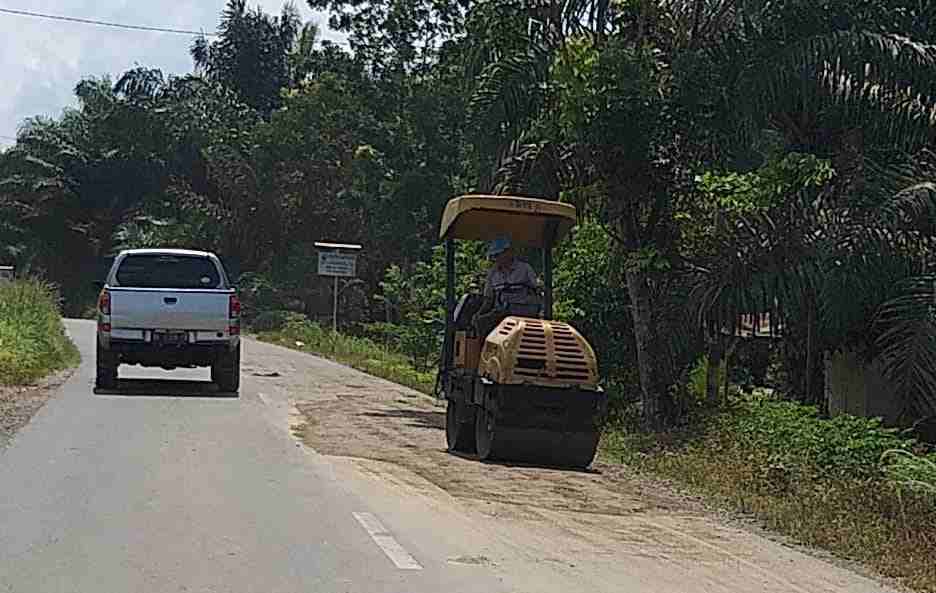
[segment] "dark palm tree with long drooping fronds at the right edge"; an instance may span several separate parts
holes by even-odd
[[[919,151],[936,123],[936,48],[882,30],[886,15],[827,26],[828,15],[817,8],[815,22],[778,33],[774,9],[757,2],[746,9],[744,26],[702,48],[720,61],[729,82],[725,116],[740,122],[739,145],[757,144],[769,131],[782,150],[829,159],[836,180],[818,196],[789,196],[782,222],[737,221],[742,226],[729,233],[726,252],[735,264],[711,269],[700,285],[701,302],[708,303],[703,317],[730,324],[742,312],[782,305],[788,332],[806,346],[796,366],[807,401],[821,398],[813,380],[820,351],[860,342],[876,346],[869,359],[885,362],[898,386],[913,386],[907,397],[926,408],[920,398],[927,397],[921,389],[930,354],[920,350],[926,340],[909,329],[925,332],[926,326],[908,304],[925,281],[907,280],[906,298],[894,286],[920,273],[930,249],[931,225],[921,216],[933,211],[927,188],[936,169]],[[745,233],[750,236],[741,239]],[[764,248],[769,237],[783,249]],[[757,247],[747,252],[756,261],[738,261],[746,253],[742,244]],[[896,300],[876,313],[889,298]],[[898,312],[909,315],[910,325],[900,325]],[[902,329],[887,329],[894,324]],[[868,339],[850,335],[859,329]]]

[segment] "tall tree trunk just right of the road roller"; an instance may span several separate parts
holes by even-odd
[[[644,423],[650,428],[661,425],[660,396],[653,385],[653,360],[650,352],[652,340],[652,315],[650,310],[650,284],[647,273],[629,268],[627,292],[631,300],[631,315],[634,319],[634,342],[637,346],[637,369],[640,372],[640,401]]]

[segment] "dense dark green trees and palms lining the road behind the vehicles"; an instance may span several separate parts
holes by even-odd
[[[349,330],[425,371],[438,220],[467,191],[575,204],[557,313],[651,424],[781,328],[775,387],[824,405],[824,352],[877,360],[936,414],[936,14],[909,0],[309,0],[350,48],[230,0],[191,74],[79,81],[0,154],[0,258],[93,299],[128,246],[219,252],[245,315],[325,321],[315,241],[364,245]],[[460,256],[459,290],[483,268]],[[375,325],[379,324],[379,325]],[[701,373],[701,374],[700,374]],[[763,374],[763,373],[761,373]]]

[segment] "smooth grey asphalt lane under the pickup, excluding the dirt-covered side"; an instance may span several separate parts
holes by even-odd
[[[95,394],[94,325],[68,327],[80,369],[0,452],[0,591],[511,590],[452,570],[445,538],[414,558],[251,381],[123,367]]]

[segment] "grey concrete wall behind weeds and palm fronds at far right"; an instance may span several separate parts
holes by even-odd
[[[853,352],[826,353],[825,389],[833,416],[880,416],[886,424],[896,423],[900,416],[902,402],[884,379],[880,366],[866,363]]]

